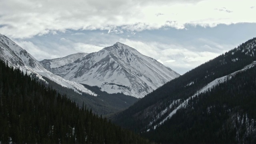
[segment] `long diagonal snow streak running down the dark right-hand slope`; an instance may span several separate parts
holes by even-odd
[[[166,120],[168,120],[169,118],[171,118],[174,114],[176,114],[177,110],[180,109],[180,108],[184,108],[186,107],[186,105],[188,104],[188,101],[191,100],[192,98],[198,96],[198,94],[201,94],[201,93],[204,93],[210,89],[212,89],[214,86],[217,86],[221,83],[224,83],[226,82],[228,79],[231,79],[233,76],[235,76],[238,72],[242,72],[242,71],[245,71],[245,70],[248,70],[252,67],[256,66],[256,61],[252,62],[252,64],[249,64],[248,66],[245,66],[242,70],[238,70],[236,72],[233,72],[232,74],[229,74],[227,76],[223,76],[221,78],[217,78],[215,79],[214,81],[210,82],[209,84],[207,84],[206,86],[204,86],[202,89],[198,90],[198,92],[196,92],[193,96],[189,97],[188,99],[184,100],[181,104],[178,105],[178,107],[176,107],[174,110],[172,110],[172,112],[170,112],[170,114],[168,116],[166,116],[166,118],[164,118],[164,120],[162,120],[161,122],[159,122],[158,124],[156,124],[154,126],[154,129],[156,129],[157,126],[160,126],[161,124],[163,124]],[[175,102],[180,102],[180,100],[175,100],[170,106],[169,108],[172,108],[174,106],[174,103]],[[163,110],[161,113],[160,116],[162,116],[165,112],[167,111],[167,108],[165,110]],[[159,119],[160,116],[157,118]],[[156,120],[157,120],[156,119]],[[156,121],[155,120],[155,121]],[[152,124],[153,122],[151,122],[150,124]],[[147,130],[149,131],[149,130]]]

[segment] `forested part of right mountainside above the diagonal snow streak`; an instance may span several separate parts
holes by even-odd
[[[120,126],[146,132],[154,128],[154,122],[163,120],[172,112],[173,109],[167,109],[165,115],[159,116],[167,106],[179,100],[183,102],[213,80],[243,69],[256,60],[255,54],[256,38],[253,38],[164,84],[112,118]],[[178,105],[174,103],[173,108]]]

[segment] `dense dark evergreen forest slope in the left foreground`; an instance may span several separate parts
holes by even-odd
[[[148,143],[0,60],[0,143]]]

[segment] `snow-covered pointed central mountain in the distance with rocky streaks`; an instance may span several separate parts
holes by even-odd
[[[42,60],[41,64],[67,80],[99,86],[108,93],[120,92],[137,98],[180,76],[155,59],[120,42],[84,55],[79,53]],[[72,60],[68,61],[70,57]],[[59,60],[64,63],[60,64]]]

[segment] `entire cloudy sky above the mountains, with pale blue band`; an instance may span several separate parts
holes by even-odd
[[[0,0],[0,34],[37,60],[116,42],[180,74],[256,37],[256,0]]]

